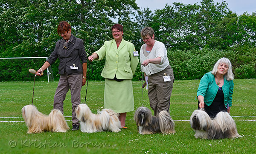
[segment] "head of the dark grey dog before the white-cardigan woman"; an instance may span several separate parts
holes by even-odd
[[[148,126],[152,120],[152,113],[147,107],[139,107],[135,114],[134,120],[137,126]]]

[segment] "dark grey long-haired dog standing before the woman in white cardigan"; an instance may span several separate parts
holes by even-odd
[[[159,115],[152,116],[150,109],[139,107],[135,114],[134,120],[140,134],[175,133],[175,123],[167,111],[161,111]]]

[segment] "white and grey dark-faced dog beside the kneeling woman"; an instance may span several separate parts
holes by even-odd
[[[207,112],[198,109],[190,117],[191,128],[195,138],[222,139],[242,137],[238,134],[236,123],[227,112],[218,112],[214,119]]]

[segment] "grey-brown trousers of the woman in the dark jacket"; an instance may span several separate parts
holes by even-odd
[[[63,101],[66,98],[67,92],[71,92],[72,103],[72,125],[79,125],[79,120],[76,118],[76,106],[81,102],[81,88],[83,84],[83,75],[68,75],[61,76],[58,82],[58,87],[54,95],[53,109],[59,109],[63,113]]]

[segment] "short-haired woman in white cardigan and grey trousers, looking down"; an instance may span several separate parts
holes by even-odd
[[[148,76],[148,98],[154,115],[170,108],[170,97],[174,82],[173,70],[169,65],[167,50],[162,42],[155,40],[154,30],[145,27],[140,32],[144,45],[140,48],[140,63]]]

